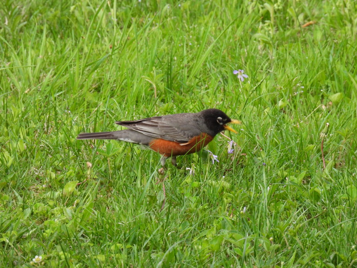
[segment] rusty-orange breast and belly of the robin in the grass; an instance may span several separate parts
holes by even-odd
[[[164,139],[154,139],[149,147],[151,150],[158,152],[165,157],[171,157],[176,155],[192,154],[200,151],[208,143],[213,140],[213,137],[202,133],[199,136],[193,137],[187,143],[172,142]]]

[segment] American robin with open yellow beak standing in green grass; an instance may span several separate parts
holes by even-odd
[[[196,153],[205,147],[221,131],[227,129],[237,133],[227,123],[240,124],[218,109],[207,109],[199,113],[169,114],[134,121],[117,121],[128,129],[110,132],[82,133],[77,139],[110,139],[140,144],[162,155],[164,166],[171,157],[176,165],[176,156]]]

